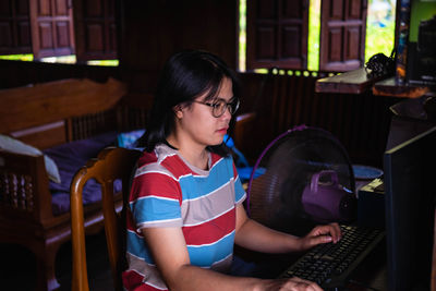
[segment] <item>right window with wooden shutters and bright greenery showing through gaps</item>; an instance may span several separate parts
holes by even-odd
[[[246,40],[241,37],[243,45],[246,44],[246,69],[278,66],[343,72],[362,68],[377,52],[390,56],[395,39],[395,2],[241,1],[241,5],[247,5]],[[244,12],[243,8],[240,10]],[[240,69],[244,68],[242,64]]]

